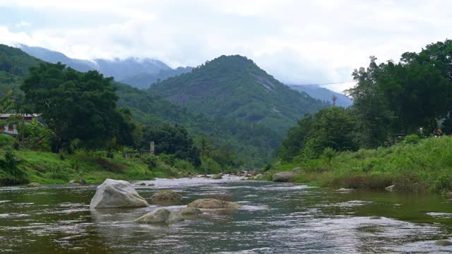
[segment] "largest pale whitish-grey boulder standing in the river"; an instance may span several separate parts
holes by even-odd
[[[148,202],[138,195],[128,181],[107,179],[97,186],[90,208],[146,207],[148,205]]]

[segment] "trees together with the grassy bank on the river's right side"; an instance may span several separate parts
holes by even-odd
[[[301,119],[264,179],[300,167],[295,181],[319,186],[450,193],[451,54],[446,40],[407,52],[399,63],[371,57],[352,74],[354,105]]]

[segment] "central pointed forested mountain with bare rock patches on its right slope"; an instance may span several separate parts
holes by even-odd
[[[150,90],[209,116],[258,123],[278,132],[329,104],[291,90],[244,56],[220,56]]]

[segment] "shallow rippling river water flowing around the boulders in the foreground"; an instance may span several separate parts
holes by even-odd
[[[157,179],[197,198],[227,194],[242,207],[174,224],[135,224],[157,205],[90,210],[96,186],[0,188],[0,253],[452,253],[452,200],[436,195],[336,192],[237,177]]]

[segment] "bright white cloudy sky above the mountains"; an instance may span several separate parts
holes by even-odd
[[[0,0],[1,44],[173,68],[240,54],[297,85],[351,81],[369,56],[397,61],[451,31],[452,1],[442,0]]]

